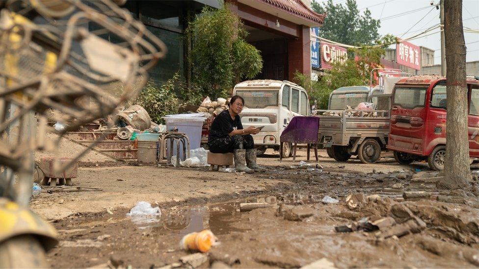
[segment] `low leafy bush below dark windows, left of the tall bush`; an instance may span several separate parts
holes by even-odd
[[[175,95],[175,84],[179,79],[180,76],[176,73],[161,87],[150,79],[133,103],[145,108],[153,122],[163,123],[161,117],[178,113],[179,100]]]

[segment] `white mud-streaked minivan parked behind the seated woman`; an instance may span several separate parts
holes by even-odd
[[[279,150],[281,133],[294,116],[311,114],[306,90],[284,80],[249,80],[238,83],[233,95],[244,98],[244,108],[239,116],[244,128],[265,126],[253,135],[259,153],[266,148]],[[284,145],[283,158],[291,155],[291,145]]]

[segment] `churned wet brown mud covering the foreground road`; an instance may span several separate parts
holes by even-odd
[[[211,229],[219,243],[195,267],[300,268],[320,259],[314,267],[479,267],[477,177],[466,189],[449,191],[397,166],[357,171],[334,162],[312,171],[272,163],[262,159],[269,171],[234,175],[230,182],[189,171],[199,173],[205,185],[215,181],[215,188],[223,186],[218,181],[225,181],[224,186],[233,188],[230,195],[156,203],[149,194],[135,197],[159,205],[158,217],[132,219],[126,215],[131,207],[111,207],[53,219],[60,243],[49,252],[49,262],[53,268],[190,267],[179,262],[190,254],[180,249],[181,238]],[[241,185],[258,182],[271,184],[257,190],[243,190]],[[128,196],[128,190],[123,192]],[[351,194],[354,199],[350,197],[348,204]],[[76,195],[80,199],[81,194]],[[339,202],[323,203],[324,196]],[[58,197],[35,203],[45,205],[54,199]],[[266,202],[269,207],[240,212],[245,202]],[[392,223],[377,224],[382,220]]]

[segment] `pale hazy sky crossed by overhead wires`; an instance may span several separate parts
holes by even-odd
[[[327,0],[316,1],[325,3]],[[431,0],[356,0],[360,12],[368,8],[374,19],[381,20],[378,31],[380,35],[393,34],[403,38],[439,24],[439,10],[431,6],[430,2]],[[433,2],[436,4],[439,0]],[[333,0],[333,3],[346,3],[346,0]],[[410,12],[413,10],[417,11]],[[479,0],[462,1],[462,20],[464,27],[479,29]],[[431,34],[429,36],[409,41],[417,46],[434,49],[434,64],[441,63],[441,35],[436,33],[438,31],[439,29],[430,31],[427,33]],[[478,61],[479,34],[464,33],[464,40],[467,47],[466,61]]]

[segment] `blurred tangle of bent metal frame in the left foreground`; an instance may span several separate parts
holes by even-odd
[[[58,153],[66,132],[111,115],[136,97],[147,70],[164,57],[166,47],[109,0],[7,1],[2,7],[0,181],[26,205],[33,152]],[[55,122],[65,127],[55,131]],[[49,141],[47,132],[59,133],[58,139]],[[94,146],[54,169],[64,170]],[[17,192],[13,190],[16,174]]]

